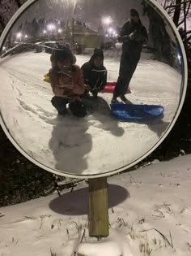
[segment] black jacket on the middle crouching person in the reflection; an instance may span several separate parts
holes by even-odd
[[[107,82],[107,70],[104,65],[96,67],[93,64],[93,56],[90,61],[84,63],[81,67],[85,85],[89,85],[91,89],[103,90]]]

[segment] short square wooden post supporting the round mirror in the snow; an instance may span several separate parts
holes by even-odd
[[[89,180],[89,236],[108,236],[107,177]]]

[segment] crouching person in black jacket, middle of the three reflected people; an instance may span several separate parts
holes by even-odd
[[[107,82],[103,50],[96,48],[90,61],[84,63],[81,69],[83,71],[84,83],[87,86],[85,95],[90,91],[94,98],[97,98],[98,93],[104,89]]]

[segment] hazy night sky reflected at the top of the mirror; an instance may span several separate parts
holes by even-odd
[[[76,0],[39,0],[32,5],[19,18],[18,22],[13,28],[13,33],[18,32],[19,24],[25,23],[27,20],[32,21],[33,18],[39,20],[40,18],[66,20],[72,19],[74,13],[74,5]],[[100,25],[104,27],[112,27],[116,29],[121,27],[126,20],[129,19],[129,10],[135,8],[140,15],[142,24],[148,30],[149,20],[142,15],[142,0],[79,0],[75,12],[76,20],[82,21],[88,26],[98,31]],[[103,23],[104,18],[110,17],[111,24]],[[172,31],[168,29],[171,37]]]

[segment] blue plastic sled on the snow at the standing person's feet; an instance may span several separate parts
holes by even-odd
[[[163,111],[163,106],[158,105],[111,104],[111,115],[124,121],[155,119]]]

